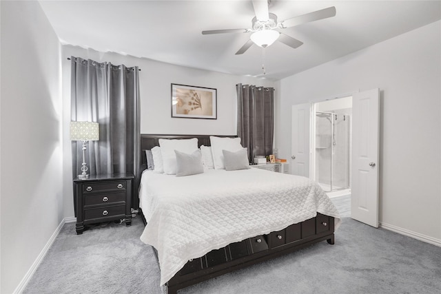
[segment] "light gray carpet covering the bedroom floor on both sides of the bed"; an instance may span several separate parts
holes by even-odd
[[[24,293],[161,293],[143,224],[76,235],[65,224]],[[314,244],[185,288],[184,293],[440,293],[441,248],[345,218],[336,244]]]

